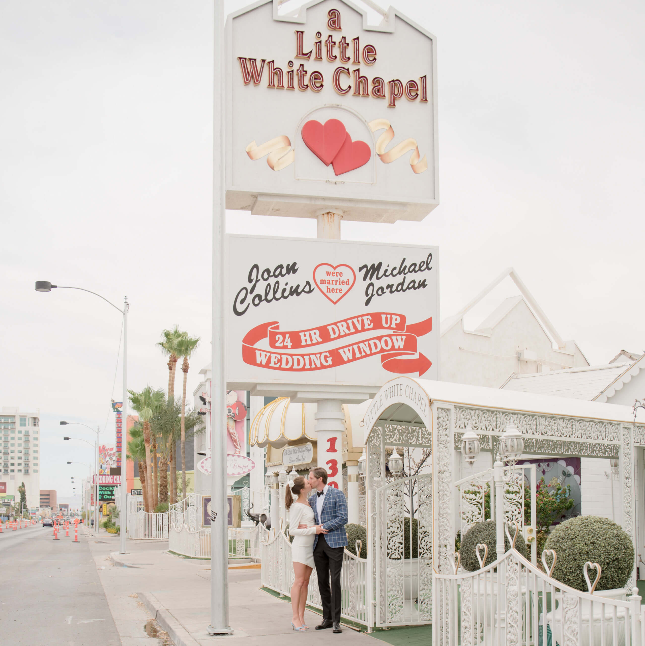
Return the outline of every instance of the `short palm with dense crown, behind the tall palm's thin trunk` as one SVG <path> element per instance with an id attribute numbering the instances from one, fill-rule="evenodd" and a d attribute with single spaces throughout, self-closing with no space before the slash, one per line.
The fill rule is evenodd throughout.
<path id="1" fill-rule="evenodd" d="M 159 503 L 168 502 L 167 464 L 172 447 L 181 437 L 181 404 L 167 401 L 150 420 L 152 434 L 158 437 L 159 446 Z M 187 439 L 205 431 L 203 417 L 197 411 L 188 410 L 184 416 Z"/>

